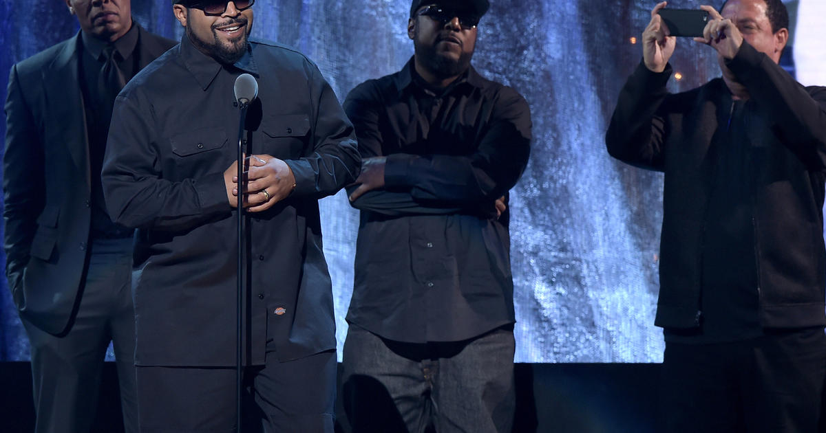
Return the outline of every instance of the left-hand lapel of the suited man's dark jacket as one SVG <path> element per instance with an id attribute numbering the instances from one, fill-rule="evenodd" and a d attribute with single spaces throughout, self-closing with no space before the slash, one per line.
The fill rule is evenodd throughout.
<path id="1" fill-rule="evenodd" d="M 86 111 L 83 109 L 83 92 L 80 91 L 78 68 L 78 40 L 74 36 L 55 57 L 50 68 L 43 71 L 50 121 L 59 123 L 63 129 L 64 143 L 72 155 L 75 165 L 86 172 L 86 186 L 90 187 L 88 164 L 88 131 Z"/>

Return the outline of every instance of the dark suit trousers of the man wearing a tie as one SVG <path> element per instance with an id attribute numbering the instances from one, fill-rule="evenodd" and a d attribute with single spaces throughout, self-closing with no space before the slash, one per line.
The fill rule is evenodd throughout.
<path id="1" fill-rule="evenodd" d="M 126 433 L 137 431 L 131 267 L 131 238 L 96 240 L 68 330 L 54 336 L 23 320 L 31 343 L 36 433 L 88 433 L 109 341 Z"/>

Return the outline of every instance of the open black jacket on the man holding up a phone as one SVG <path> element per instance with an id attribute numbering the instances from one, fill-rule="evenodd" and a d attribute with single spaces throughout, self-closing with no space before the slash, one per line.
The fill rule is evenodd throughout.
<path id="1" fill-rule="evenodd" d="M 727 65 L 751 96 L 744 157 L 761 324 L 823 326 L 826 88 L 801 86 L 746 42 Z M 709 148 L 726 125 L 732 96 L 721 78 L 670 94 L 670 74 L 639 65 L 605 141 L 611 156 L 665 173 L 655 323 L 686 328 L 698 325 L 704 215 L 714 188 Z"/>

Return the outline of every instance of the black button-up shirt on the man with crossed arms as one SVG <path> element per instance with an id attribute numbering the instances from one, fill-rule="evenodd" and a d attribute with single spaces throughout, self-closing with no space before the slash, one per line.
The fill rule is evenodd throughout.
<path id="1" fill-rule="evenodd" d="M 444 90 L 412 60 L 344 101 L 386 186 L 361 209 L 347 320 L 396 341 L 461 341 L 515 320 L 506 195 L 528 162 L 525 99 L 473 68 Z"/>

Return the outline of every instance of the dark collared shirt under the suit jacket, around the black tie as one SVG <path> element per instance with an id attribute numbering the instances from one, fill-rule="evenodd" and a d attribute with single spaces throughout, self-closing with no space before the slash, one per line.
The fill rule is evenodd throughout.
<path id="1" fill-rule="evenodd" d="M 126 34 L 115 42 L 106 42 L 82 31 L 83 51 L 80 56 L 81 92 L 83 92 L 83 111 L 86 112 L 86 130 L 89 143 L 89 180 L 92 187 L 90 206 L 92 208 L 92 238 L 129 238 L 133 230 L 112 223 L 103 201 L 101 187 L 101 167 L 103 154 L 106 153 L 106 139 L 109 134 L 109 121 L 112 117 L 112 96 L 100 95 L 98 80 L 101 68 L 107 58 L 104 50 L 112 45 L 117 51 L 117 67 L 128 82 L 138 72 L 138 26 L 131 26 Z M 120 89 L 118 89 L 120 90 Z"/>

